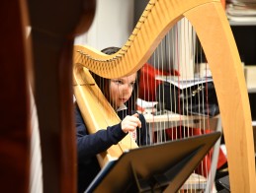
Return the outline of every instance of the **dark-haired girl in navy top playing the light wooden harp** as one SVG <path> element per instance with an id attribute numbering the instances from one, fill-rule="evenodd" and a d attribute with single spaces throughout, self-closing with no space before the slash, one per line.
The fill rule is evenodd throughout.
<path id="1" fill-rule="evenodd" d="M 109 47 L 104 53 L 113 54 L 120 48 Z M 81 112 L 75 104 L 76 136 L 78 148 L 78 192 L 84 192 L 86 187 L 100 171 L 96 155 L 106 151 L 112 145 L 118 144 L 128 133 L 140 145 L 149 143 L 145 119 L 136 113 L 135 101 L 137 96 L 137 73 L 120 79 L 104 79 L 93 74 L 95 82 L 117 111 L 121 123 L 100 130 L 95 134 L 88 134 Z"/>

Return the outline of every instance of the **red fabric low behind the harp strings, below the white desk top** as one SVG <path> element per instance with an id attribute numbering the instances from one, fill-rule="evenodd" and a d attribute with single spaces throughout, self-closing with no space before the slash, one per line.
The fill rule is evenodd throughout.
<path id="1" fill-rule="evenodd" d="M 189 136 L 207 134 L 207 133 L 210 133 L 210 132 L 211 132 L 211 130 L 202 130 L 202 129 L 199 129 L 199 128 L 178 127 L 178 128 L 166 129 L 166 134 L 172 140 L 182 139 L 182 138 L 189 137 Z M 212 156 L 213 156 L 213 150 L 210 151 L 210 153 L 205 157 L 205 159 L 197 167 L 197 169 L 196 169 L 197 173 L 199 173 L 199 174 L 201 174 L 205 177 L 208 176 L 208 173 L 209 173 L 210 168 L 211 168 Z M 226 160 L 222 150 L 219 149 L 217 168 L 222 166 L 226 161 L 227 160 Z"/>

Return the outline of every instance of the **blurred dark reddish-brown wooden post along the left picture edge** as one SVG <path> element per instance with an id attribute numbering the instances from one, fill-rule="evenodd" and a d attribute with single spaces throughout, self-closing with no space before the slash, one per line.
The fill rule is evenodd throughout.
<path id="1" fill-rule="evenodd" d="M 5 21 L 1 25 L 1 42 L 5 48 L 1 49 L 0 53 L 3 68 L 0 72 L 0 80 L 3 83 L 0 92 L 1 191 L 28 192 L 30 175 L 28 72 L 31 69 L 31 61 L 28 56 L 29 47 L 25 43 L 24 25 L 28 24 L 26 4 L 22 1 L 3 1 L 0 10 L 0 18 Z M 14 12 L 11 15 L 10 10 Z M 13 51 L 7 51 L 9 48 L 12 49 L 11 47 Z M 16 121 L 13 122 L 12 118 Z M 17 182 L 15 186 L 12 185 L 13 180 Z"/>

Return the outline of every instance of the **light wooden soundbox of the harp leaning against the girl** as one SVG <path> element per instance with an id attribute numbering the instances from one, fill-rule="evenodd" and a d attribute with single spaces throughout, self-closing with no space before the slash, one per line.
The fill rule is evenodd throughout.
<path id="1" fill-rule="evenodd" d="M 74 58 L 77 58 L 76 55 Z M 119 116 L 96 85 L 88 69 L 84 69 L 76 61 L 75 64 L 77 65 L 73 69 L 74 95 L 89 132 L 95 133 L 99 129 L 120 123 Z M 137 148 L 137 145 L 127 135 L 118 145 L 113 145 L 107 152 L 97 155 L 98 161 L 104 166 L 131 148 Z"/>

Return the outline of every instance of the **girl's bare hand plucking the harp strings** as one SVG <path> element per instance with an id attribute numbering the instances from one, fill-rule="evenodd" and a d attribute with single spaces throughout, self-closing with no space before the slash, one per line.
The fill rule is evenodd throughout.
<path id="1" fill-rule="evenodd" d="M 140 128 L 141 122 L 138 119 L 138 114 L 135 113 L 131 116 L 126 116 L 121 122 L 121 127 L 125 133 L 135 131 L 137 127 Z"/>

